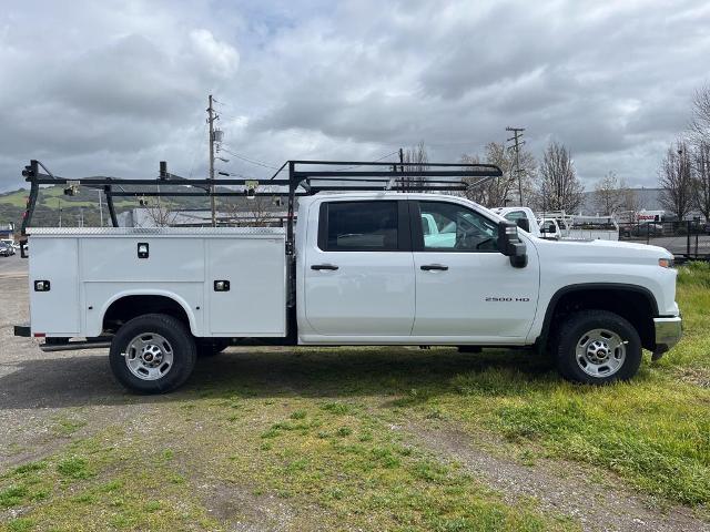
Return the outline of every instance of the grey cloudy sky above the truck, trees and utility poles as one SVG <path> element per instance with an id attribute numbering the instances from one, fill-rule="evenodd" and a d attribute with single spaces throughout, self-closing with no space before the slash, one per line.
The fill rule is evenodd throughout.
<path id="1" fill-rule="evenodd" d="M 536 156 L 565 143 L 588 187 L 653 186 L 710 81 L 708 28 L 707 0 L 3 0 L 0 191 L 29 158 L 203 177 L 210 93 L 221 168 L 246 176 L 419 141 L 458 161 L 517 125 Z"/>

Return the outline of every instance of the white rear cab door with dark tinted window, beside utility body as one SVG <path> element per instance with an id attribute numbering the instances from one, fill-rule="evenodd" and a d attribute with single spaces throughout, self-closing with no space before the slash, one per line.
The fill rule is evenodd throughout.
<path id="1" fill-rule="evenodd" d="M 406 201 L 328 201 L 310 216 L 304 304 L 312 334 L 408 336 L 415 276 Z"/>

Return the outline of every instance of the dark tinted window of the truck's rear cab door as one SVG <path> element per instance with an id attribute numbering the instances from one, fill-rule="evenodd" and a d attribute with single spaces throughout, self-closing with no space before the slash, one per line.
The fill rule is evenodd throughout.
<path id="1" fill-rule="evenodd" d="M 326 252 L 396 252 L 397 202 L 332 202 L 325 204 Z M 321 218 L 323 222 L 323 218 Z M 324 242 L 323 242 L 324 241 Z"/>

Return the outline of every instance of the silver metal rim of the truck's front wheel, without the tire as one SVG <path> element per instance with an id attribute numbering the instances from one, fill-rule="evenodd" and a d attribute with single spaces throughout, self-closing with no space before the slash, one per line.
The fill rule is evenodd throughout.
<path id="1" fill-rule="evenodd" d="M 609 377 L 616 374 L 626 360 L 627 341 L 608 329 L 592 329 L 577 341 L 577 365 L 591 377 Z"/>

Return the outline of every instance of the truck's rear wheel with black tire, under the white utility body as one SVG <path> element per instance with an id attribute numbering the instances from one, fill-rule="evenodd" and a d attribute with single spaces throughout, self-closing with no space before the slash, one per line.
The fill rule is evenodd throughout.
<path id="1" fill-rule="evenodd" d="M 182 321 L 146 314 L 123 325 L 111 341 L 115 378 L 141 393 L 163 393 L 181 386 L 195 367 L 195 342 Z"/>

